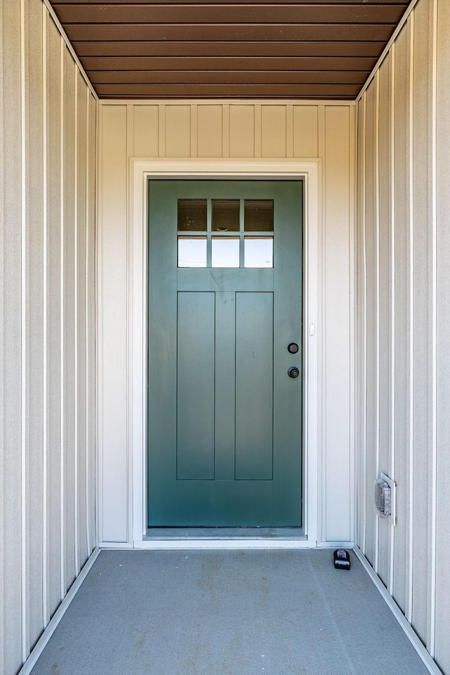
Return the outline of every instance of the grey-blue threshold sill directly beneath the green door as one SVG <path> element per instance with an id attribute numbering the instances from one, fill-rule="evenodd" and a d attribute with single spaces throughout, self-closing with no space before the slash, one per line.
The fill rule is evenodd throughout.
<path id="1" fill-rule="evenodd" d="M 186 539 L 291 539 L 306 541 L 302 527 L 148 527 L 144 541 Z"/>

